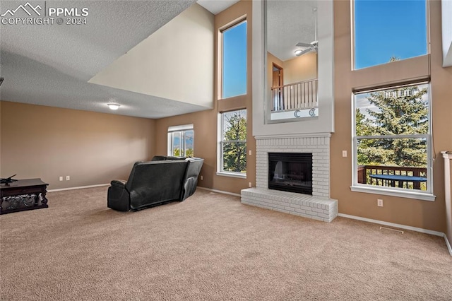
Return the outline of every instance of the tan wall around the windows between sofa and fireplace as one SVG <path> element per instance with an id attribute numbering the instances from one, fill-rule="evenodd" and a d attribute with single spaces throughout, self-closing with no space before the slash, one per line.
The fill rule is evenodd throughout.
<path id="1" fill-rule="evenodd" d="M 210 189 L 218 189 L 221 191 L 229 191 L 239 194 L 241 189 L 247 188 L 251 182 L 253 186 L 256 184 L 256 141 L 252 136 L 252 108 L 251 108 L 251 1 L 239 1 L 225 11 L 215 16 L 215 61 L 218 62 L 218 33 L 220 28 L 231 23 L 237 18 L 246 15 L 247 20 L 247 47 L 248 47 L 248 73 L 247 73 L 247 94 L 218 100 L 220 91 L 218 85 L 215 85 L 215 107 L 213 110 L 197 112 L 192 114 L 184 114 L 177 117 L 162 118 L 156 120 L 156 153 L 167 153 L 167 130 L 168 126 L 177 126 L 181 124 L 194 124 L 194 155 L 204 158 L 203 169 L 201 175 L 203 180 L 199 179 L 199 186 Z M 218 75 L 220 67 L 215 64 L 215 83 L 220 83 Z M 218 113 L 230 110 L 239 110 L 246 108 L 247 132 L 248 137 L 246 146 L 252 155 L 247 155 L 246 159 L 246 179 L 236 177 L 225 177 L 216 175 L 217 172 L 217 123 Z"/>

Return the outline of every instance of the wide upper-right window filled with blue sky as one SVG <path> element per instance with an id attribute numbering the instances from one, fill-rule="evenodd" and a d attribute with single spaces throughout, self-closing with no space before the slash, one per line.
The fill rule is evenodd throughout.
<path id="1" fill-rule="evenodd" d="M 355 69 L 427 54 L 427 1 L 353 3 Z"/>

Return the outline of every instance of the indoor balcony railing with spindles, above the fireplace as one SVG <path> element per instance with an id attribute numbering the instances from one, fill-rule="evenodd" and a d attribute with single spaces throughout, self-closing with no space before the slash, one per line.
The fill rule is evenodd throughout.
<path id="1" fill-rule="evenodd" d="M 300 81 L 271 88 L 272 112 L 305 110 L 319 107 L 318 80 Z"/>

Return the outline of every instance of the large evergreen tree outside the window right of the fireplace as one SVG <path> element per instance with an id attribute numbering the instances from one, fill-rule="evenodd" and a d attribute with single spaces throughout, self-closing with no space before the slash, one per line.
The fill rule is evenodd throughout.
<path id="1" fill-rule="evenodd" d="M 410 137 L 429 133 L 427 93 L 424 84 L 364 95 L 355 114 L 358 165 L 427 167 L 427 140 Z M 384 137 L 359 138 L 369 136 Z"/>

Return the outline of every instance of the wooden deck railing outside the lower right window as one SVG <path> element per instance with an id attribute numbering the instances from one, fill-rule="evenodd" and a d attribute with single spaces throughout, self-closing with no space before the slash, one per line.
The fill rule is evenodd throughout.
<path id="1" fill-rule="evenodd" d="M 359 165 L 358 183 L 427 190 L 427 168 Z"/>

